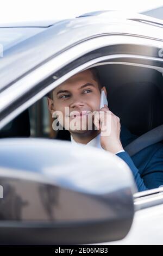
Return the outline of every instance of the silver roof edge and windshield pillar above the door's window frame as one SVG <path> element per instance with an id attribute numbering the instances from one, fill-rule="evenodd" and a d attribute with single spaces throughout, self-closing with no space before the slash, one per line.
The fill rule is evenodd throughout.
<path id="1" fill-rule="evenodd" d="M 23 23 L 24 29 L 28 26 L 28 22 Z M 0 91 L 49 58 L 99 35 L 128 34 L 162 40 L 163 22 L 141 14 L 98 11 L 74 19 L 45 21 L 40 25 L 39 22 L 30 23 L 30 28 L 36 29 L 37 26 L 45 29 L 8 48 L 0 57 Z"/>

